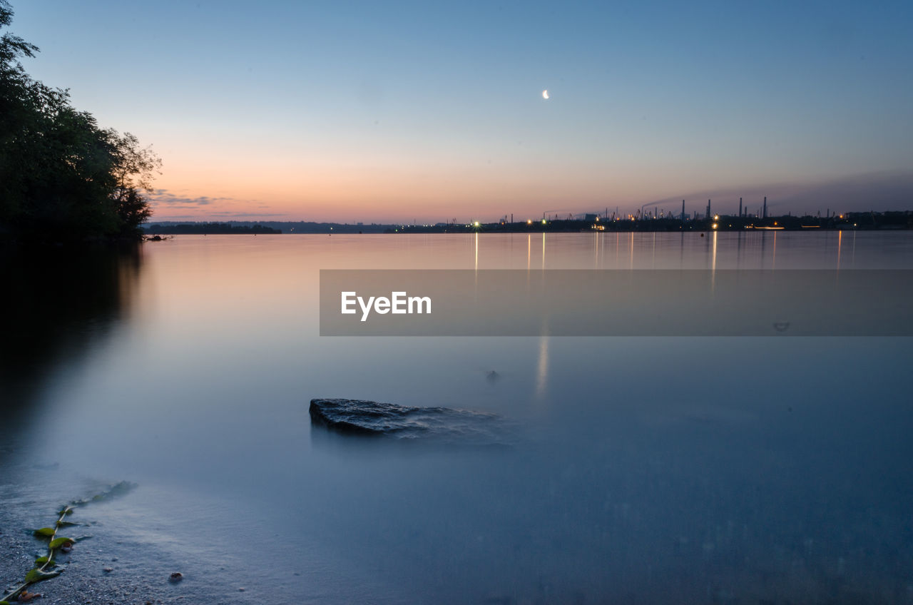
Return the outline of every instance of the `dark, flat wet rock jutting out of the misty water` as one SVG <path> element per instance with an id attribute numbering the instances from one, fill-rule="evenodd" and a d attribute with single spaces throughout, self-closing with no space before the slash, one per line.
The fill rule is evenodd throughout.
<path id="1" fill-rule="evenodd" d="M 402 440 L 503 443 L 496 414 L 450 408 L 408 408 L 361 399 L 311 399 L 310 420 L 331 430 Z"/>

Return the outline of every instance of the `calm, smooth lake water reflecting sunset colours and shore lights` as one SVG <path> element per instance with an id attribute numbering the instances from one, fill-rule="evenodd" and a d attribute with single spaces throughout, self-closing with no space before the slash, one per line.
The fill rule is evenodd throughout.
<path id="1" fill-rule="evenodd" d="M 137 483 L 80 509 L 82 556 L 163 600 L 913 603 L 909 338 L 318 335 L 320 269 L 913 269 L 913 233 L 184 236 L 2 263 L 2 529 Z M 311 398 L 493 412 L 508 444 L 337 436 Z"/>

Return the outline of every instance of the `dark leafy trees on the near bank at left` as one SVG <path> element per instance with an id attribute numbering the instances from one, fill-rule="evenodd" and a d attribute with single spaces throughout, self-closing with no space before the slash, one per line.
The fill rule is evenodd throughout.
<path id="1" fill-rule="evenodd" d="M 13 11 L 0 0 L 0 30 Z M 0 37 L 0 238 L 140 239 L 159 158 L 135 136 L 100 128 L 68 90 L 26 74 L 38 48 Z"/>

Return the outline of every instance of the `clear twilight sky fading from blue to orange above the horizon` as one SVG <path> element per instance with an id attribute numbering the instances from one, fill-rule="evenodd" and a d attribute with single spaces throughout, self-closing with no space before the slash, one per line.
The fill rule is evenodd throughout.
<path id="1" fill-rule="evenodd" d="M 12 4 L 160 220 L 913 209 L 909 2 Z"/>

